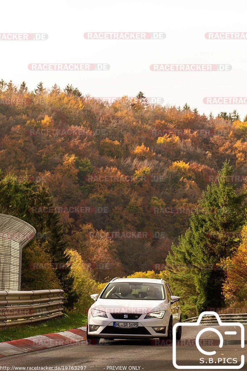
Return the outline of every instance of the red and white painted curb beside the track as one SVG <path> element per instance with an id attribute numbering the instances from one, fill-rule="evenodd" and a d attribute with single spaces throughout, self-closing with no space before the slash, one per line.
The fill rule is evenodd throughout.
<path id="1" fill-rule="evenodd" d="M 25 339 L 6 341 L 0 343 L 0 357 L 34 352 L 41 349 L 59 347 L 60 345 L 75 344 L 81 341 L 84 341 L 83 345 L 85 345 L 86 329 L 86 326 L 83 326 L 54 334 L 37 335 Z"/>

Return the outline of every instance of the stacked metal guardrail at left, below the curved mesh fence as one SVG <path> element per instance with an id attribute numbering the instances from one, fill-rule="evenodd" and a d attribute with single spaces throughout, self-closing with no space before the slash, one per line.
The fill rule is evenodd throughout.
<path id="1" fill-rule="evenodd" d="M 63 290 L 0 291 L 0 329 L 63 315 Z"/>

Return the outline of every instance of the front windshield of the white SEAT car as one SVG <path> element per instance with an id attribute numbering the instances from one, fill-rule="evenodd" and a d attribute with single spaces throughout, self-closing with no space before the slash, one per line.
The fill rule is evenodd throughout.
<path id="1" fill-rule="evenodd" d="M 111 282 L 101 294 L 102 299 L 164 300 L 162 283 Z"/>

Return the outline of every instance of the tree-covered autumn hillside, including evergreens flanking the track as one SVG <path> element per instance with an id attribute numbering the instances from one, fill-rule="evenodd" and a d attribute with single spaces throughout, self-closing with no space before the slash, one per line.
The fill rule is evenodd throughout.
<path id="1" fill-rule="evenodd" d="M 236 111 L 1 80 L 0 212 L 37 230 L 22 289 L 62 287 L 87 308 L 83 285 L 153 270 L 187 315 L 247 300 L 246 138 Z"/>

